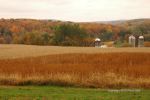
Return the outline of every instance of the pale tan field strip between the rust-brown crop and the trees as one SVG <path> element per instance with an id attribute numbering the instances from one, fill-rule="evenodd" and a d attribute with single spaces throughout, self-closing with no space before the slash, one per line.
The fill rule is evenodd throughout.
<path id="1" fill-rule="evenodd" d="M 150 53 L 150 48 L 95 48 L 95 47 L 58 47 L 58 46 L 33 46 L 33 45 L 0 45 L 0 59 L 37 57 L 54 54 L 70 53 L 112 53 L 112 52 L 144 52 Z"/>

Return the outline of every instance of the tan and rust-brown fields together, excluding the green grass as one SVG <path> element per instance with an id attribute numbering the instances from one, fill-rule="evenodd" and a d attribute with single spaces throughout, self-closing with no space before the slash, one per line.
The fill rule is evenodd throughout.
<path id="1" fill-rule="evenodd" d="M 0 45 L 0 58 L 1 85 L 150 88 L 149 48 Z"/>

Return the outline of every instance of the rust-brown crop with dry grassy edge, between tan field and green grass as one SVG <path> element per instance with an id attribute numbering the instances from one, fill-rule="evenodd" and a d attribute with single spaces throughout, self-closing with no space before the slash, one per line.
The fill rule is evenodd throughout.
<path id="1" fill-rule="evenodd" d="M 0 60 L 0 84 L 150 88 L 150 53 L 56 54 Z"/>

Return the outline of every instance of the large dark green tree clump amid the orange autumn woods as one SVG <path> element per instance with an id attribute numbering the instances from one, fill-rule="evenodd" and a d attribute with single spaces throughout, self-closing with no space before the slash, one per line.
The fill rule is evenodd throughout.
<path id="1" fill-rule="evenodd" d="M 78 24 L 62 24 L 55 30 L 53 43 L 56 45 L 82 45 L 87 34 Z"/>

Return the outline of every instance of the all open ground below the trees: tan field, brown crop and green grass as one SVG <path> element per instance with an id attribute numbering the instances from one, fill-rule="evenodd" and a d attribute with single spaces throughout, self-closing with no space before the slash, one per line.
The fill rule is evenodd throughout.
<path id="1" fill-rule="evenodd" d="M 149 89 L 150 48 L 0 45 L 0 100 L 148 100 Z"/>

